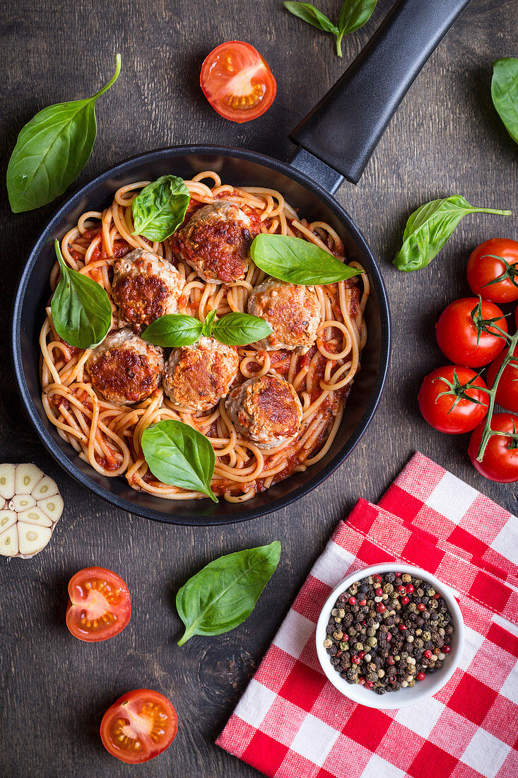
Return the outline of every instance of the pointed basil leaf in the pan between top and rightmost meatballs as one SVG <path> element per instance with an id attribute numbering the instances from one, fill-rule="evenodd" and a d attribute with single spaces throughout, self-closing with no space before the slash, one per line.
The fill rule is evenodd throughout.
<path id="1" fill-rule="evenodd" d="M 323 248 L 290 235 L 260 233 L 250 246 L 257 267 L 275 279 L 300 286 L 334 284 L 359 275 Z"/>

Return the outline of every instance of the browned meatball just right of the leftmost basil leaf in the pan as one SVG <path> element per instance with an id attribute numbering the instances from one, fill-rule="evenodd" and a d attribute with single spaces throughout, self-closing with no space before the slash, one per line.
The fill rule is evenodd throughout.
<path id="1" fill-rule="evenodd" d="M 184 286 L 177 268 L 141 248 L 114 263 L 114 302 L 137 334 L 159 316 L 178 312 Z"/>

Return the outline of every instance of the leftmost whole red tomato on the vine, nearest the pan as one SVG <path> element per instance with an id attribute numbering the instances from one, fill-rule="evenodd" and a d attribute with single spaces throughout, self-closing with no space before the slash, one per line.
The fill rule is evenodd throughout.
<path id="1" fill-rule="evenodd" d="M 482 390 L 487 388 L 474 370 L 458 365 L 439 367 L 425 377 L 418 394 L 419 409 L 439 433 L 469 433 L 485 418 L 488 395 L 471 388 L 470 384 L 482 387 Z M 473 398 L 473 401 L 467 398 Z"/>

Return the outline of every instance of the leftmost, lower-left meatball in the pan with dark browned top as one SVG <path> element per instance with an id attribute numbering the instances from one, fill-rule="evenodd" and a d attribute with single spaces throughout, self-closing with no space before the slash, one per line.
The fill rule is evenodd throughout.
<path id="1" fill-rule="evenodd" d="M 86 360 L 94 389 L 115 405 L 133 405 L 148 398 L 160 384 L 163 365 L 162 349 L 129 328 L 112 332 Z"/>

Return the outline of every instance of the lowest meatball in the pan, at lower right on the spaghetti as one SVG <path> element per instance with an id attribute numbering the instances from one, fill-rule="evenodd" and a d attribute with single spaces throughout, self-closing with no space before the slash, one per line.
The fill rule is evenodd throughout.
<path id="1" fill-rule="evenodd" d="M 233 389 L 225 407 L 237 431 L 259 448 L 285 443 L 299 432 L 303 416 L 292 384 L 268 373 Z"/>

